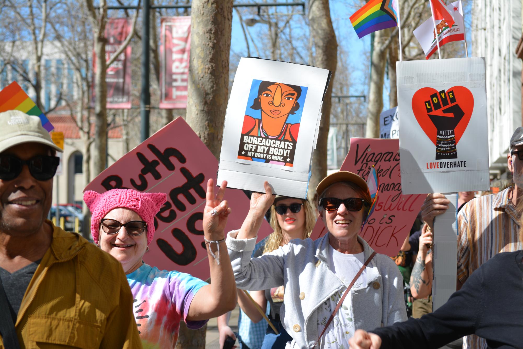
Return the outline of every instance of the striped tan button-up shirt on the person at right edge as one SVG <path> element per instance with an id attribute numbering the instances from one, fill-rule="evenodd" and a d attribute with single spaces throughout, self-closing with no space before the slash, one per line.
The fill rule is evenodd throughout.
<path id="1" fill-rule="evenodd" d="M 499 252 L 523 249 L 519 241 L 520 214 L 510 200 L 513 187 L 469 201 L 458 213 L 458 279 L 468 277 Z M 476 335 L 466 337 L 465 349 L 486 348 Z"/>

